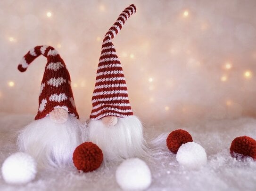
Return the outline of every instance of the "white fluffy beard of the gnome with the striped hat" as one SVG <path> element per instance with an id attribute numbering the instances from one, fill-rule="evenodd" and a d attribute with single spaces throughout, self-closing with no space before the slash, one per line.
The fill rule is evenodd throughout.
<path id="1" fill-rule="evenodd" d="M 148 156 L 142 124 L 134 115 L 118 118 L 113 127 L 106 127 L 101 120 L 89 120 L 88 128 L 89 141 L 99 146 L 105 161 Z"/>

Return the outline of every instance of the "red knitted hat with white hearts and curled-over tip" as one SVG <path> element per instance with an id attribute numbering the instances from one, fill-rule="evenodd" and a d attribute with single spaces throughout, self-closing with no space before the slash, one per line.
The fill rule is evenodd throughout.
<path id="1" fill-rule="evenodd" d="M 41 54 L 47 58 L 47 64 L 41 82 L 39 108 L 35 120 L 47 116 L 54 108 L 64 108 L 69 114 L 79 118 L 70 75 L 57 50 L 51 46 L 34 47 L 21 59 L 18 70 L 25 72 L 29 64 Z"/>

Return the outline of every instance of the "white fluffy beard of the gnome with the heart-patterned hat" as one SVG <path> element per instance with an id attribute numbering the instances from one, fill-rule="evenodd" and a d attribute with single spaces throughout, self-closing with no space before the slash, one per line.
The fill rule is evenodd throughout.
<path id="1" fill-rule="evenodd" d="M 31 154 L 41 168 L 67 167 L 73 165 L 74 149 L 86 135 L 86 128 L 74 116 L 69 115 L 65 123 L 55 123 L 48 115 L 25 126 L 19 132 L 17 146 Z"/>

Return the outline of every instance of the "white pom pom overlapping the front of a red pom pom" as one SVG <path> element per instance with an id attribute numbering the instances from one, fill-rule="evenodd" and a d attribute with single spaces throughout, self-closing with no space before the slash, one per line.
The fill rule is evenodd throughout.
<path id="1" fill-rule="evenodd" d="M 206 165 L 206 151 L 201 145 L 188 142 L 181 145 L 176 154 L 176 160 L 185 168 L 197 169 Z"/>

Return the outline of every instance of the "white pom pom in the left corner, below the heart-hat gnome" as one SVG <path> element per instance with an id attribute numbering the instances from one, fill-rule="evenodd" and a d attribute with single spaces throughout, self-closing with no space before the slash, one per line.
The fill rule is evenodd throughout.
<path id="1" fill-rule="evenodd" d="M 7 183 L 28 183 L 36 176 L 36 161 L 26 153 L 10 155 L 2 165 L 2 176 Z"/>

